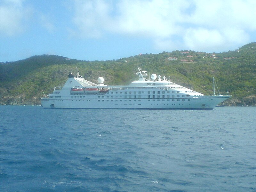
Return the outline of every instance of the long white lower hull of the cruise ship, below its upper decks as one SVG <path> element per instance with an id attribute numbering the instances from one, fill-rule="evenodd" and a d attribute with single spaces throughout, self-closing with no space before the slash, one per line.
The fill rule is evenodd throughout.
<path id="1" fill-rule="evenodd" d="M 213 109 L 230 96 L 173 99 L 42 99 L 43 108 Z"/>

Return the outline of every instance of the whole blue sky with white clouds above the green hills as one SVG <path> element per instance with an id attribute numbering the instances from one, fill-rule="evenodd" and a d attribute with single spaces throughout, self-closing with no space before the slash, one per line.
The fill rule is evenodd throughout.
<path id="1" fill-rule="evenodd" d="M 255 0 L 0 0 L 0 62 L 227 52 L 256 41 L 255 10 Z"/>

